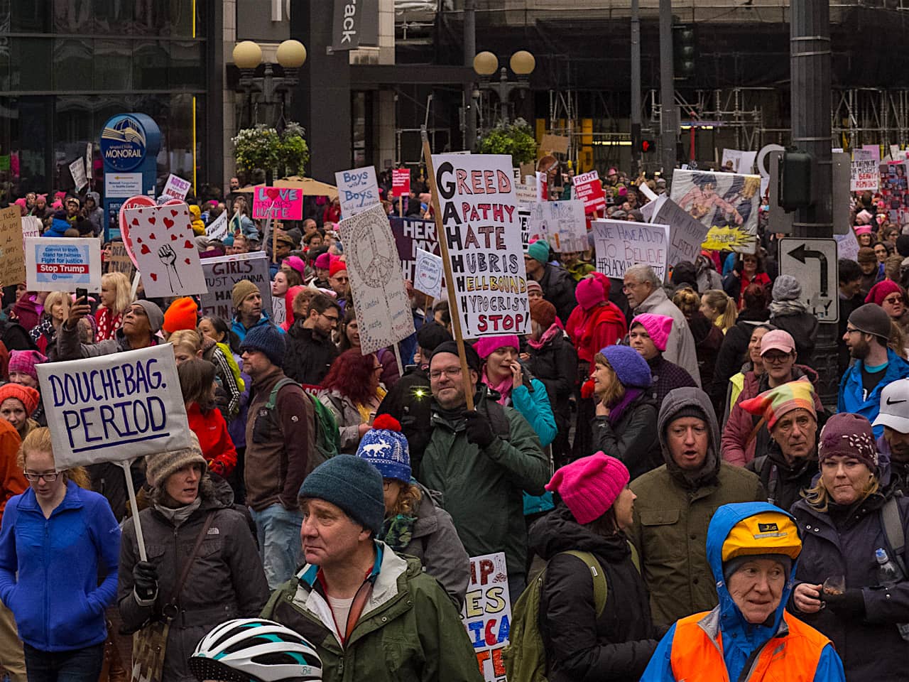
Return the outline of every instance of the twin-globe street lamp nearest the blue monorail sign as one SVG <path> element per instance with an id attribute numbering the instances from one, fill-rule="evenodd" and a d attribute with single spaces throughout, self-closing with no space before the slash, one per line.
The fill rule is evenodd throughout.
<path id="1" fill-rule="evenodd" d="M 281 115 L 275 122 L 280 133 L 284 128 L 285 94 L 292 95 L 299 84 L 299 69 L 306 61 L 306 48 L 298 40 L 285 40 L 275 52 L 275 58 L 284 69 L 283 76 L 275 76 L 271 62 L 265 63 L 265 74 L 256 77 L 255 69 L 262 64 L 262 47 L 251 40 L 237 43 L 234 47 L 234 64 L 240 69 L 240 86 L 246 94 L 246 125 L 253 125 L 253 93 L 261 94 L 266 106 L 281 105 Z M 256 116 L 256 118 L 258 118 Z"/>

